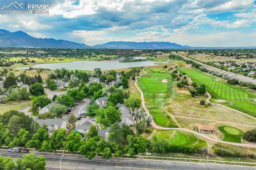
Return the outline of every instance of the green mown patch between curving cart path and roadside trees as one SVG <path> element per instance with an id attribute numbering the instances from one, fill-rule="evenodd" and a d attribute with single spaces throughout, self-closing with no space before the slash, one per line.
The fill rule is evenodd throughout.
<path id="1" fill-rule="evenodd" d="M 183 146 L 205 147 L 206 142 L 196 137 L 194 134 L 179 130 L 157 130 L 154 134 L 158 139 L 164 138 L 170 144 Z"/>

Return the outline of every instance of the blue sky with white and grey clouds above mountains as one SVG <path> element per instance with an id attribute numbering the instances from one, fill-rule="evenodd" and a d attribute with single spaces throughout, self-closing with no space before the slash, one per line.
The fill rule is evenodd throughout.
<path id="1" fill-rule="evenodd" d="M 1 0 L 0 5 L 10 2 Z M 255 0 L 36 2 L 50 4 L 50 14 L 0 14 L 0 28 L 87 45 L 164 41 L 204 47 L 256 46 Z"/>

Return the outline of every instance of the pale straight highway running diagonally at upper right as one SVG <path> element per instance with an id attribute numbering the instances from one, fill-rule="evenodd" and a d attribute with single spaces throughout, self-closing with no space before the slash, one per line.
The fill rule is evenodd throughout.
<path id="1" fill-rule="evenodd" d="M 194 59 L 190 59 L 190 58 L 188 58 L 188 57 L 186 57 L 186 56 L 184 56 L 184 55 L 178 54 L 178 53 L 176 53 L 176 52 L 173 52 L 173 53 L 176 54 L 176 55 L 180 55 L 180 56 L 183 57 L 184 59 L 192 60 L 192 61 L 194 61 L 195 63 L 198 63 L 198 64 L 200 64 L 200 65 L 203 65 L 204 67 L 206 67 L 206 68 L 207 68 L 208 70 L 210 70 L 210 71 L 219 71 L 219 72 L 222 72 L 222 73 L 226 73 L 228 76 L 234 77 L 234 78 L 236 78 L 236 79 L 238 79 L 238 80 L 242 80 L 242 81 L 251 82 L 251 83 L 256 84 L 256 79 L 254 80 L 254 79 L 252 79 L 252 78 L 250 78 L 250 77 L 246 77 L 246 76 L 244 76 L 244 75 L 239 75 L 239 74 L 236 75 L 235 73 L 231 73 L 231 72 L 229 72 L 229 71 L 224 71 L 224 70 L 222 70 L 222 69 L 218 69 L 218 68 L 216 68 L 216 67 L 212 67 L 212 66 L 210 66 L 210 65 L 206 65 L 206 64 L 201 63 L 201 62 L 199 62 L 199 61 L 196 61 L 196 60 L 194 60 Z"/>

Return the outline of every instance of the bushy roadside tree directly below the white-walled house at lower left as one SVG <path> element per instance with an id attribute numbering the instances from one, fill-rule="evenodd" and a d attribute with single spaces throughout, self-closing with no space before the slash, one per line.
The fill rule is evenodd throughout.
<path id="1" fill-rule="evenodd" d="M 66 135 L 66 130 L 64 128 L 60 128 L 60 130 L 54 130 L 52 132 L 52 136 L 49 142 L 52 150 L 58 150 L 63 147 L 65 135 Z"/>

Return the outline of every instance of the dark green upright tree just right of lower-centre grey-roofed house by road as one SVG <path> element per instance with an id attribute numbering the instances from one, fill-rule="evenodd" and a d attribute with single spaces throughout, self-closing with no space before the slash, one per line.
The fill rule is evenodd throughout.
<path id="1" fill-rule="evenodd" d="M 111 125 L 109 132 L 108 141 L 116 142 L 118 144 L 121 144 L 124 141 L 124 132 L 122 132 L 122 128 L 118 123 Z"/>

